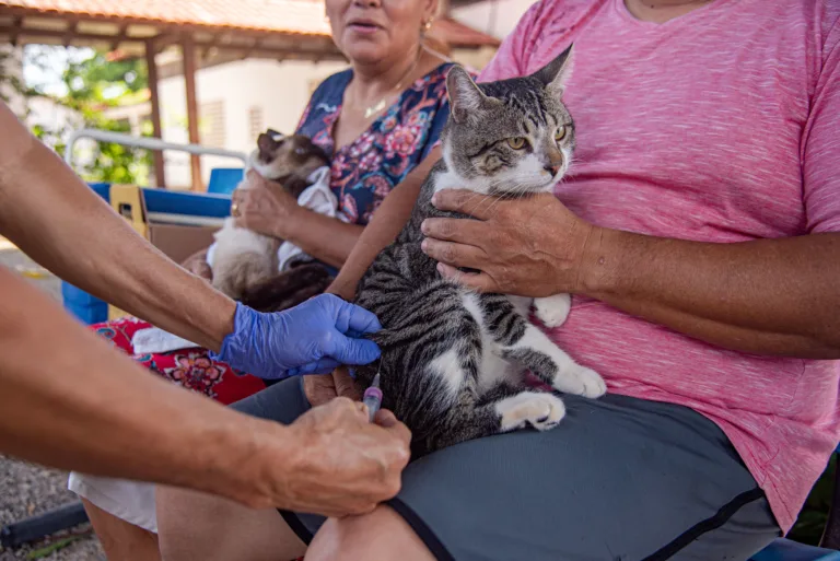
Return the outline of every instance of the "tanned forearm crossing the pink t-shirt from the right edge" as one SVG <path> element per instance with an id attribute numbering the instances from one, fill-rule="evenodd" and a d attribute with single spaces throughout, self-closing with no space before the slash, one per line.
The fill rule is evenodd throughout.
<path id="1" fill-rule="evenodd" d="M 596 230 L 582 291 L 746 352 L 840 358 L 840 235 L 708 244 Z"/>

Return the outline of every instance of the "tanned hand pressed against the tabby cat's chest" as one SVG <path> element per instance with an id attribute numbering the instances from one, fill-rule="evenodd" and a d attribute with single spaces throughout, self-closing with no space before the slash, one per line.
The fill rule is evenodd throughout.
<path id="1" fill-rule="evenodd" d="M 423 252 L 440 261 L 444 277 L 482 292 L 534 297 L 580 292 L 584 253 L 596 229 L 552 195 L 499 200 L 446 189 L 432 203 L 477 219 L 423 222 Z"/>

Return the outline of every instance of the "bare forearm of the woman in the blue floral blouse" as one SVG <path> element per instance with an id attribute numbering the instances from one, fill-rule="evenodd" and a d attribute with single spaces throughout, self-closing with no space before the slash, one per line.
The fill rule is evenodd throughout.
<path id="1" fill-rule="evenodd" d="M 284 237 L 307 255 L 338 268 L 345 265 L 364 231 L 364 226 L 347 224 L 303 208 L 289 220 L 278 237 Z"/>

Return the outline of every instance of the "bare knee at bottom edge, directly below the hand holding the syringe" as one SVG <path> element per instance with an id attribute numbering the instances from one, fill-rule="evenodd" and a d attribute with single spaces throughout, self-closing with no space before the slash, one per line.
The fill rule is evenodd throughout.
<path id="1" fill-rule="evenodd" d="M 363 516 L 328 519 L 306 552 L 306 561 L 357 559 L 434 561 L 402 517 L 384 505 Z"/>

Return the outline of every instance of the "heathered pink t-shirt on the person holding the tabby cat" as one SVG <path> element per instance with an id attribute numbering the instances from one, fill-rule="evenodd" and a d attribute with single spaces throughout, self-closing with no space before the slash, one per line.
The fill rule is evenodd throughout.
<path id="1" fill-rule="evenodd" d="M 480 81 L 574 42 L 578 150 L 557 196 L 594 224 L 720 243 L 838 232 L 839 17 L 835 0 L 716 0 L 654 24 L 623 0 L 542 0 Z M 840 437 L 840 362 L 723 350 L 586 297 L 552 336 L 610 391 L 718 423 L 790 529 Z"/>

